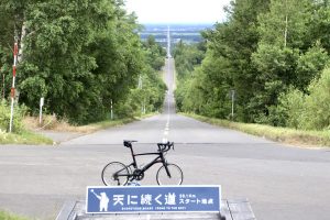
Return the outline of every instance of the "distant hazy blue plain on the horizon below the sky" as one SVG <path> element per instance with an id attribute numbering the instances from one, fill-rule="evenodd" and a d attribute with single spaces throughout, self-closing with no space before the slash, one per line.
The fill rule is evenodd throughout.
<path id="1" fill-rule="evenodd" d="M 169 26 L 170 43 L 176 44 L 180 40 L 185 43 L 193 44 L 202 41 L 201 31 L 212 29 L 213 24 L 143 24 L 144 30 L 140 33 L 142 41 L 145 41 L 148 35 L 154 35 L 156 42 L 164 47 L 167 43 L 167 29 Z"/>

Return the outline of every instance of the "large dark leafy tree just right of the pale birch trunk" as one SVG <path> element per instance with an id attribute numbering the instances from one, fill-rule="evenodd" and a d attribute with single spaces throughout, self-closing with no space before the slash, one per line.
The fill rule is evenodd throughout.
<path id="1" fill-rule="evenodd" d="M 21 101 L 37 111 L 45 97 L 50 112 L 70 122 L 97 121 L 105 116 L 101 90 L 90 53 L 96 32 L 107 29 L 113 6 L 105 1 L 38 2 L 25 11 L 29 32 L 20 65 Z M 101 33 L 101 32 L 100 32 Z M 107 74 L 107 73 L 103 73 Z M 77 114 L 77 112 L 79 112 Z"/>

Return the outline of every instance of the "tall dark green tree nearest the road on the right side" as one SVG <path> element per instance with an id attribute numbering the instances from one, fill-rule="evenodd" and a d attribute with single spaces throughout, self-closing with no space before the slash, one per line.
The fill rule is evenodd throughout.
<path id="1" fill-rule="evenodd" d="M 234 89 L 238 95 L 237 120 L 253 121 L 256 110 L 250 105 L 250 100 L 258 85 L 255 80 L 257 70 L 251 63 L 251 55 L 256 51 L 260 37 L 256 29 L 257 15 L 267 11 L 267 7 L 268 1 L 262 0 L 232 1 L 231 6 L 226 9 L 228 21 L 218 23 L 213 30 L 204 33 L 204 37 L 208 41 L 208 57 L 206 58 L 208 62 L 202 63 L 200 74 L 205 78 L 202 87 L 212 92 L 207 92 L 208 95 L 202 99 L 208 100 L 206 107 L 213 109 L 212 112 L 223 112 L 211 116 L 227 118 L 224 109 L 229 100 L 227 98 L 224 101 L 224 97 L 228 97 L 229 91 Z M 212 68 L 215 69 L 211 70 Z M 223 105 L 222 110 L 217 110 L 219 105 Z M 207 112 L 210 111 L 206 111 L 206 114 L 209 114 Z"/>

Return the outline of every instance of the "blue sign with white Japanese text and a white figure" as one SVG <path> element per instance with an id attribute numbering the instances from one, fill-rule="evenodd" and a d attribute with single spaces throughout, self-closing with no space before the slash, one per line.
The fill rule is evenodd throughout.
<path id="1" fill-rule="evenodd" d="M 220 210 L 220 186 L 87 187 L 88 213 Z"/>

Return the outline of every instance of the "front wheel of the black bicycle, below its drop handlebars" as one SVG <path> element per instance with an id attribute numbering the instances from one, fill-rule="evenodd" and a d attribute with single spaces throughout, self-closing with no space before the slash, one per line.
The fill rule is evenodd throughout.
<path id="1" fill-rule="evenodd" d="M 176 164 L 166 164 L 166 167 L 163 165 L 157 172 L 158 185 L 182 185 L 184 180 L 182 168 Z"/>

